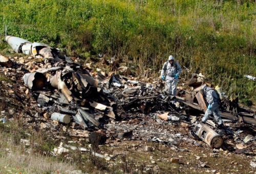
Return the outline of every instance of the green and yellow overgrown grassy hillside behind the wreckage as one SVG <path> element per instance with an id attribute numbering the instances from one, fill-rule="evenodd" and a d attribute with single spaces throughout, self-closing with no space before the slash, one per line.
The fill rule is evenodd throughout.
<path id="1" fill-rule="evenodd" d="M 0 0 L 0 31 L 84 58 L 161 69 L 172 54 L 230 96 L 256 100 L 256 4 L 199 0 Z M 2 54 L 8 46 L 0 44 Z"/>

